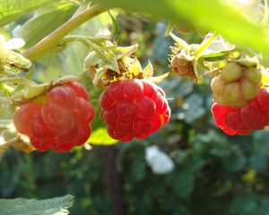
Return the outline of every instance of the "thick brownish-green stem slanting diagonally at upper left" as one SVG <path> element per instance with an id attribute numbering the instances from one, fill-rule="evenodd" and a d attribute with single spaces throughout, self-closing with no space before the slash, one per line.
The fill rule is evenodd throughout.
<path id="1" fill-rule="evenodd" d="M 30 47 L 23 53 L 23 56 L 30 60 L 38 58 L 39 56 L 44 56 L 49 49 L 56 47 L 57 42 L 60 39 L 63 39 L 66 34 L 70 33 L 82 23 L 87 22 L 91 18 L 99 15 L 100 13 L 104 13 L 107 10 L 107 8 L 104 8 L 100 4 L 94 4 L 89 9 L 86 9 L 82 13 L 74 16 L 71 20 L 65 22 L 59 28 L 51 32 L 46 38 L 40 40 L 35 46 Z"/>

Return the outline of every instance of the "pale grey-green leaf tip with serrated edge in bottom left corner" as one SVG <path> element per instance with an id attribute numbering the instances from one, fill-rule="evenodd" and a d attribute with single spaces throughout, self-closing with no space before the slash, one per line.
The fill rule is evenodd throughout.
<path id="1" fill-rule="evenodd" d="M 0 215 L 65 215 L 66 209 L 73 205 L 74 197 L 70 194 L 46 200 L 35 199 L 0 199 Z"/>

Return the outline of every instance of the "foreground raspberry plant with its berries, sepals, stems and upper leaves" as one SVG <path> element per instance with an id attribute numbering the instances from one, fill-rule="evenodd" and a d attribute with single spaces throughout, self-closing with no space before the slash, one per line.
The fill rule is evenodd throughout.
<path id="1" fill-rule="evenodd" d="M 223 23 L 221 27 L 213 24 L 208 8 L 198 0 L 188 4 L 160 1 L 158 5 L 152 2 L 143 5 L 141 0 L 134 5 L 121 0 L 115 3 L 102 0 L 98 4 L 60 1 L 50 7 L 48 4 L 53 1 L 37 1 L 25 6 L 25 1 L 20 0 L 18 5 L 11 3 L 12 10 L 8 10 L 7 1 L 4 3 L 0 4 L 0 8 L 6 10 L 1 13 L 0 24 L 8 26 L 0 34 L 0 100 L 5 107 L 0 108 L 11 108 L 13 113 L 10 119 L 0 122 L 0 150 L 9 146 L 24 152 L 66 152 L 82 145 L 89 148 L 88 143 L 94 143 L 91 133 L 104 126 L 107 133 L 102 135 L 107 136 L 108 142 L 147 138 L 169 124 L 173 114 L 164 90 L 161 85 L 157 86 L 164 79 L 169 82 L 187 78 L 197 85 L 211 82 L 213 119 L 224 133 L 247 135 L 269 125 L 266 1 L 258 5 L 264 10 L 258 14 L 262 19 L 257 23 L 238 15 L 230 4 L 213 1 L 212 8 L 221 8 L 217 10 L 218 19 Z M 22 7 L 21 11 L 18 6 Z M 115 6 L 138 12 L 155 8 L 154 15 L 169 19 L 165 34 L 175 40 L 169 56 L 169 73 L 155 76 L 153 68 L 157 65 L 151 62 L 142 69 L 142 57 L 137 56 L 140 47 L 135 41 L 127 47 L 119 46 L 117 20 L 110 13 L 116 11 Z M 25 22 L 21 29 L 13 28 L 11 22 L 16 22 L 18 16 L 42 7 L 44 11 Z M 61 22 L 49 26 L 49 32 L 39 34 L 40 23 L 36 23 L 44 16 L 57 18 L 59 8 L 65 8 Z M 165 13 L 169 10 L 169 14 Z M 106 12 L 113 25 L 109 34 L 101 31 L 94 35 L 69 34 L 83 22 Z M 203 22 L 194 22 L 200 20 L 199 14 L 204 14 Z M 191 23 L 191 26 L 185 28 L 180 22 Z M 33 28 L 30 30 L 34 35 L 32 40 L 30 27 Z M 19 32 L 25 41 L 11 39 L 13 35 L 8 28 L 13 29 L 13 35 Z M 242 34 L 231 35 L 230 28 Z M 191 30 L 199 31 L 203 40 L 200 44 L 187 44 L 179 37 L 181 32 Z M 258 39 L 256 43 L 253 38 Z M 42 70 L 37 63 L 39 58 L 58 55 L 75 42 L 80 42 L 87 50 L 83 73 L 74 71 L 75 75 L 58 75 L 49 82 L 40 82 L 36 78 Z M 99 118 L 104 125 L 98 122 Z"/>

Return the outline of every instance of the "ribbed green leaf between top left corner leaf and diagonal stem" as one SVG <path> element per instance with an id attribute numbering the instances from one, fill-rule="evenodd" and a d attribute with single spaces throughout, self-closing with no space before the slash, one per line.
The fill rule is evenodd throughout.
<path id="1" fill-rule="evenodd" d="M 24 39 L 25 47 L 31 47 L 66 22 L 79 4 L 63 2 L 42 8 L 30 21 L 15 30 L 15 36 Z"/>

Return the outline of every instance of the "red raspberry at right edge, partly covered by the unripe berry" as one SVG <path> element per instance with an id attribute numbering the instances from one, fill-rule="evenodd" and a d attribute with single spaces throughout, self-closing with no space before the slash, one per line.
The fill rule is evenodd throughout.
<path id="1" fill-rule="evenodd" d="M 269 125 L 269 88 L 260 88 L 254 99 L 244 107 L 212 107 L 215 124 L 230 135 L 246 135 L 251 130 L 264 129 Z"/>

